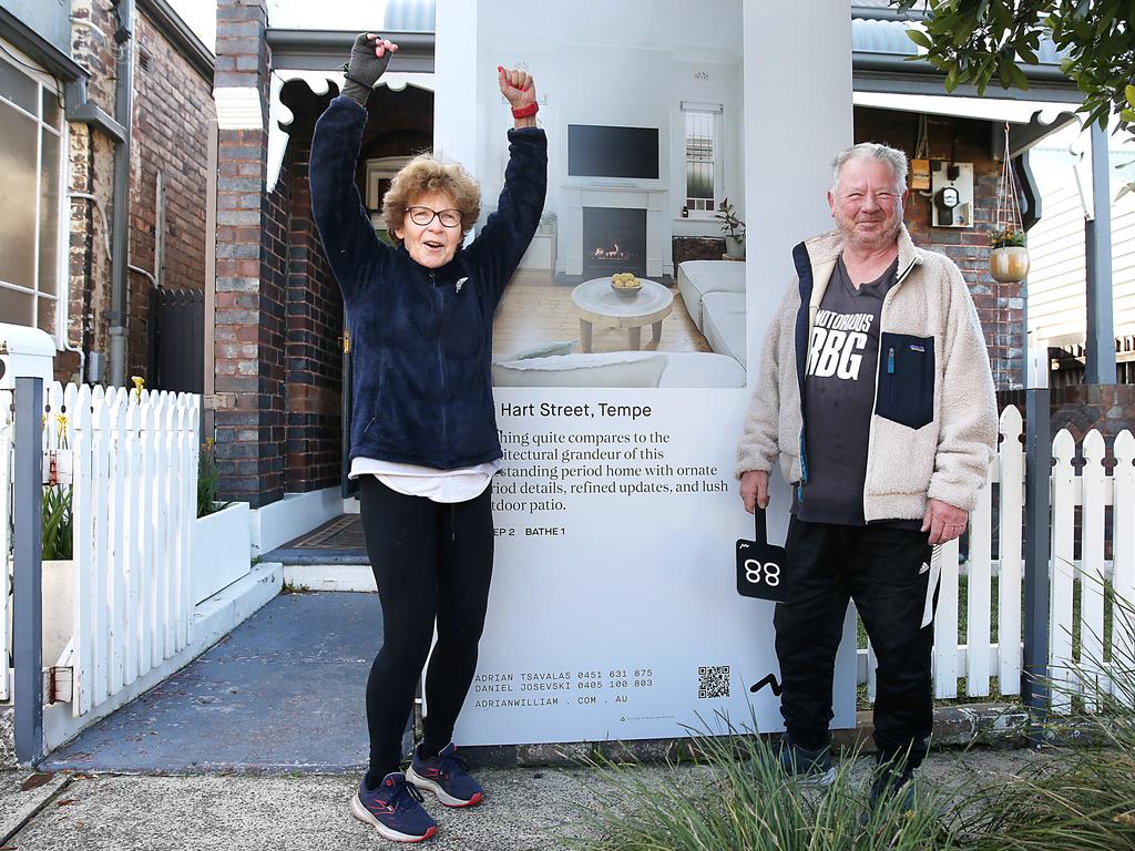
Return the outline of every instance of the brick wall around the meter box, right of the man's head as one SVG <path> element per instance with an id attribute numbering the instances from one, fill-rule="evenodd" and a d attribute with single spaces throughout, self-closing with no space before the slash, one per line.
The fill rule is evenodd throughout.
<path id="1" fill-rule="evenodd" d="M 993 126 L 990 121 L 931 117 L 928 137 L 930 159 L 974 165 L 974 227 L 931 227 L 931 200 L 913 192 L 907 201 L 907 228 L 916 245 L 942 252 L 961 269 L 985 332 L 997 388 L 1023 387 L 1026 285 L 1000 284 L 989 273 L 986 234 L 1001 174 L 1001 162 L 992 157 Z M 909 157 L 917 138 L 918 113 L 856 107 L 856 142 L 884 142 Z"/>

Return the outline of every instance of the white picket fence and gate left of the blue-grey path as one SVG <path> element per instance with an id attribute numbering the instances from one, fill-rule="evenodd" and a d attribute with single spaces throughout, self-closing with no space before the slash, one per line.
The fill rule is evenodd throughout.
<path id="1" fill-rule="evenodd" d="M 7 517 L 11 414 L 2 396 L 0 516 Z M 75 603 L 72 642 L 58 673 L 70 673 L 75 717 L 188 643 L 200 408 L 201 397 L 191 394 L 45 388 L 44 480 L 54 474 L 73 488 Z M 0 525 L 6 536 L 8 523 Z M 8 551 L 7 540 L 0 546 Z M 8 572 L 0 574 L 6 608 Z M 7 631 L 0 634 L 6 643 Z M 0 665 L 0 697 L 8 694 L 7 674 Z"/>

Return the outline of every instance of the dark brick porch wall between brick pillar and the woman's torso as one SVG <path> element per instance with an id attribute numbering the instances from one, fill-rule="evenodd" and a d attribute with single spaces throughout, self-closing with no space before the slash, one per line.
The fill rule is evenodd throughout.
<path id="1" fill-rule="evenodd" d="M 342 464 L 343 297 L 311 218 L 310 148 L 293 140 L 287 267 L 288 492 L 337 485 Z"/>

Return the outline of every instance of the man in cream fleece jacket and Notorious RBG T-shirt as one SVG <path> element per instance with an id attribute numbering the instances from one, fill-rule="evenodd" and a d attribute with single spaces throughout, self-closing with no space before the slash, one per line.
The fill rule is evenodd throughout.
<path id="1" fill-rule="evenodd" d="M 864 143 L 834 163 L 836 229 L 793 248 L 738 447 L 747 511 L 779 460 L 793 487 L 788 601 L 773 623 L 784 770 L 818 782 L 848 599 L 878 659 L 871 801 L 910 800 L 933 719 L 933 547 L 960 536 L 997 444 L 985 342 L 961 272 L 902 225 L 906 154 Z"/>

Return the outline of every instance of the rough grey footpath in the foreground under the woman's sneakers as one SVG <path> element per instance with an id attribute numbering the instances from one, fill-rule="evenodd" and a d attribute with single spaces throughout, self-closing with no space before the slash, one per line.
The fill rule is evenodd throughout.
<path id="1" fill-rule="evenodd" d="M 948 752 L 931 758 L 925 782 L 970 789 L 995 773 L 1019 769 L 1024 751 Z M 682 783 L 697 768 L 645 766 L 636 772 Z M 58 773 L 23 791 L 27 772 L 0 775 L 2 849 L 18 851 L 361 851 L 393 849 L 356 821 L 346 801 L 353 777 L 327 774 L 90 775 Z M 589 831 L 597 807 L 619 795 L 587 768 L 479 772 L 484 804 L 446 810 L 427 797 L 440 833 L 436 851 L 535 851 L 564 848 Z M 36 808 L 39 808 L 36 810 Z M 25 826 L 11 834 L 22 818 Z"/>

